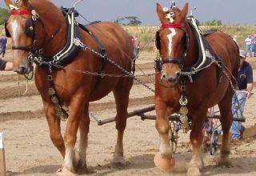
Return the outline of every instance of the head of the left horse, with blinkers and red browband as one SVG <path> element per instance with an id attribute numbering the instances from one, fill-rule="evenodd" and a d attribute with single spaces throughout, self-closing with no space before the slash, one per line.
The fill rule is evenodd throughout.
<path id="1" fill-rule="evenodd" d="M 31 54 L 42 54 L 46 45 L 49 46 L 56 29 L 47 27 L 38 11 L 34 10 L 34 7 L 38 6 L 37 1 L 5 0 L 5 2 L 10 9 L 10 18 L 5 24 L 5 30 L 6 37 L 12 38 L 13 42 L 14 71 L 18 74 L 27 74 L 32 64 Z M 45 1 L 45 3 L 45 6 L 49 6 L 51 2 Z M 47 13 L 50 15 L 50 10 Z M 45 12 L 44 15 L 47 13 Z M 52 16 L 54 18 L 54 15 Z M 59 17 L 58 14 L 57 16 Z M 58 28 L 61 26 L 58 22 L 55 23 Z"/>

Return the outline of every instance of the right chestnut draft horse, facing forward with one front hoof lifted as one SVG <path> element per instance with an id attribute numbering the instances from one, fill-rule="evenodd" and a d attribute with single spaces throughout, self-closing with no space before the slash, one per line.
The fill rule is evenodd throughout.
<path id="1" fill-rule="evenodd" d="M 188 3 L 182 10 L 176 6 L 162 8 L 157 4 L 162 27 L 156 35 L 160 58 L 156 61 L 155 126 L 160 136 L 160 154 L 156 155 L 155 164 L 163 170 L 171 170 L 174 166 L 168 117 L 170 114 L 180 113 L 181 121 L 182 118 L 190 118 L 192 122 L 192 159 L 187 174 L 199 175 L 202 127 L 206 121 L 207 109 L 216 104 L 222 117 L 220 122 L 223 130 L 219 163 L 230 164 L 231 98 L 234 94 L 232 86 L 236 83 L 233 75 L 238 70 L 239 58 L 238 46 L 230 36 L 222 32 L 208 34 L 205 40 L 202 39 L 204 37 L 198 39 L 200 33 L 194 30 L 198 29 L 195 20 L 194 25 L 189 22 L 193 16 L 186 18 L 187 13 Z M 207 52 L 201 50 L 202 41 L 208 43 Z M 206 64 L 207 62 L 209 63 Z M 186 121 L 183 123 L 188 125 Z M 184 128 L 187 127 L 186 124 L 183 124 Z M 166 162 L 162 162 L 164 160 L 170 166 L 166 166 Z"/>

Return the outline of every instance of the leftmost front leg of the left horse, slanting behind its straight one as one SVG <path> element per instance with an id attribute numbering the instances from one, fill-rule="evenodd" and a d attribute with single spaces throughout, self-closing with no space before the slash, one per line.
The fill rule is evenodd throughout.
<path id="1" fill-rule="evenodd" d="M 57 147 L 62 157 L 65 158 L 65 145 L 60 128 L 60 118 L 56 116 L 54 106 L 51 103 L 43 102 L 46 119 L 50 130 L 50 139 Z"/>

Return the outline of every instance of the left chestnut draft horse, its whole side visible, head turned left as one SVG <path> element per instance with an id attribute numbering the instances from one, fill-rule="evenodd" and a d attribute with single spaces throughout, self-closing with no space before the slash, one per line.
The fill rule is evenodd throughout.
<path id="1" fill-rule="evenodd" d="M 130 58 L 133 57 L 130 35 L 112 22 L 95 22 L 86 26 L 85 31 L 74 21 L 69 35 L 70 21 L 74 17 L 71 12 L 78 13 L 74 8 L 63 15 L 62 10 L 50 0 L 5 2 L 10 7 L 6 35 L 12 38 L 14 45 L 14 71 L 26 74 L 31 62 L 37 63 L 35 83 L 42 96 L 50 139 L 64 158 L 58 175 L 72 175 L 76 168 L 86 167 L 89 102 L 103 98 L 110 91 L 113 91 L 116 102 L 118 130 L 113 162 L 124 164 L 122 140 L 133 78 L 107 75 L 130 73 Z M 75 41 L 75 45 L 62 50 L 70 38 L 74 39 L 71 42 Z M 66 50 L 72 52 L 71 56 L 70 52 L 66 54 Z M 62 106 L 69 111 L 64 138 L 59 117 L 59 114 L 62 117 L 66 115 L 66 111 L 60 108 Z M 78 150 L 74 150 L 78 129 Z"/>

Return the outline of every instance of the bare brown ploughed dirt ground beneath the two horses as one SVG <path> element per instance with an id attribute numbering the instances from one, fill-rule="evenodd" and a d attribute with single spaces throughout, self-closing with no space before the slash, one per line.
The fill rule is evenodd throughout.
<path id="1" fill-rule="evenodd" d="M 143 52 L 138 59 L 136 75 L 154 74 L 154 54 Z M 6 55 L 10 59 L 10 52 Z M 256 66 L 255 58 L 248 59 Z M 256 71 L 254 70 L 254 73 Z M 5 135 L 6 174 L 7 175 L 55 175 L 62 166 L 62 157 L 49 138 L 49 130 L 42 112 L 42 100 L 34 86 L 28 84 L 25 91 L 25 79 L 20 79 L 12 72 L 0 73 L 0 131 Z M 146 77 L 139 76 L 147 85 L 154 85 Z M 152 76 L 151 79 L 154 80 Z M 254 74 L 254 78 L 255 74 Z M 203 175 L 256 175 L 256 138 L 255 138 L 255 97 L 246 102 L 245 117 L 246 138 L 232 145 L 230 168 L 215 166 L 215 155 L 204 154 Z M 135 82 L 131 91 L 129 111 L 154 105 L 154 94 Z M 90 104 L 90 112 L 97 118 L 114 117 L 114 98 L 109 94 L 101 101 Z M 151 112 L 154 114 L 154 111 Z M 62 130 L 66 122 L 62 122 Z M 164 173 L 154 166 L 154 154 L 158 152 L 158 132 L 154 121 L 142 121 L 139 117 L 129 118 L 124 136 L 126 166 L 122 169 L 110 165 L 113 158 L 117 131 L 115 124 L 98 126 L 91 118 L 89 148 L 87 150 L 87 170 L 80 170 L 79 175 L 185 175 L 190 162 L 191 150 L 189 133 L 179 133 L 176 166 L 174 172 Z"/>

